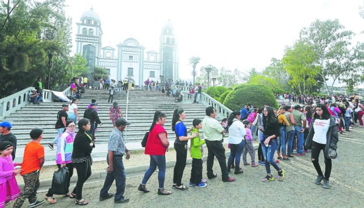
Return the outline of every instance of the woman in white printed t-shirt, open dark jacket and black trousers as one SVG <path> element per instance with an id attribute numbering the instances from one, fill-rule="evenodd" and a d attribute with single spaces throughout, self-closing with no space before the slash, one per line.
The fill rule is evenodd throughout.
<path id="1" fill-rule="evenodd" d="M 322 184 L 323 188 L 330 188 L 329 178 L 332 160 L 334 162 L 340 161 L 336 153 L 336 144 L 338 141 L 339 136 L 337 134 L 335 119 L 331 117 L 324 104 L 317 104 L 307 136 L 306 147 L 311 149 L 311 161 L 318 174 L 314 183 L 321 184 L 321 181 L 324 180 Z M 318 163 L 318 156 L 320 156 L 321 150 L 324 150 L 325 175 L 321 171 L 320 164 Z"/>

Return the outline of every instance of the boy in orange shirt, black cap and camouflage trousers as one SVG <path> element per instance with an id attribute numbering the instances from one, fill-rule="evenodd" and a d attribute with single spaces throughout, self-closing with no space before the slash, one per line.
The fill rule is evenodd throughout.
<path id="1" fill-rule="evenodd" d="M 23 164 L 20 168 L 20 175 L 23 176 L 24 179 L 24 189 L 16 199 L 13 206 L 14 208 L 20 208 L 27 198 L 29 201 L 29 208 L 44 203 L 44 200 L 37 200 L 39 171 L 44 164 L 44 147 L 39 143 L 43 138 L 43 130 L 35 128 L 29 135 L 33 140 L 25 146 Z"/>

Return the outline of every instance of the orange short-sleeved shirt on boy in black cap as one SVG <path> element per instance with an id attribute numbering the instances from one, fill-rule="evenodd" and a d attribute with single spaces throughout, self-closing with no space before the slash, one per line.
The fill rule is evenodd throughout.
<path id="1" fill-rule="evenodd" d="M 44 147 L 38 142 L 29 142 L 25 145 L 23 163 L 21 165 L 20 175 L 40 169 L 39 159 L 44 157 Z"/>

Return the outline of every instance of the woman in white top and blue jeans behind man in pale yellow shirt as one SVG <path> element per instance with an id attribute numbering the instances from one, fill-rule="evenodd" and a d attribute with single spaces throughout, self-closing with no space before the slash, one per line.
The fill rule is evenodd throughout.
<path id="1" fill-rule="evenodd" d="M 227 159 L 227 171 L 230 171 L 231 165 L 235 159 L 235 172 L 234 174 L 241 174 L 243 170 L 240 168 L 240 158 L 244 150 L 244 136 L 246 135 L 245 126 L 240 121 L 240 111 L 233 111 L 227 119 L 227 126 L 229 126 L 229 146 L 230 155 Z"/>

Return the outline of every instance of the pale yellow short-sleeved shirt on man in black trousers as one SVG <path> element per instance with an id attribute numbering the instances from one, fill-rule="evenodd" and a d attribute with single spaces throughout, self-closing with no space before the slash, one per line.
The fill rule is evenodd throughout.
<path id="1" fill-rule="evenodd" d="M 202 130 L 205 140 L 219 141 L 222 139 L 221 132 L 224 128 L 216 119 L 206 115 L 202 121 Z"/>

